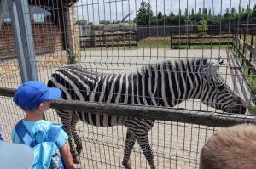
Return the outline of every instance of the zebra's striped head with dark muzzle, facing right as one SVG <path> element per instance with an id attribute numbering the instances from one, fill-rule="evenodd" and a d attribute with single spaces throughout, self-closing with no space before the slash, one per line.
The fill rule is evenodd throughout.
<path id="1" fill-rule="evenodd" d="M 201 101 L 218 110 L 229 113 L 245 114 L 247 106 L 245 102 L 230 89 L 224 82 L 224 78 L 218 74 L 220 59 L 208 63 L 202 70 Z"/>

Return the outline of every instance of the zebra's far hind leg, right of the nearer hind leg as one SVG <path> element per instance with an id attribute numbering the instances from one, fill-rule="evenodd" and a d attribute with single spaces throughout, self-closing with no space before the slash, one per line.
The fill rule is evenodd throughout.
<path id="1" fill-rule="evenodd" d="M 77 150 L 78 154 L 80 155 L 83 147 L 82 147 L 82 140 L 79 137 L 79 134 L 76 130 L 76 125 L 77 125 L 78 121 L 79 121 L 78 117 L 76 115 L 73 115 L 72 120 L 71 120 L 71 130 L 72 130 L 74 142 L 77 145 L 76 150 Z"/>

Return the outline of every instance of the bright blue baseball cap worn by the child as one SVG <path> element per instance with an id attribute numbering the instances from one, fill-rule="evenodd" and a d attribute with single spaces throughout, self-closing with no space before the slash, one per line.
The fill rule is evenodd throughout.
<path id="1" fill-rule="evenodd" d="M 15 92 L 14 102 L 22 110 L 32 110 L 46 100 L 61 98 L 61 90 L 47 87 L 43 82 L 28 81 L 20 85 Z"/>

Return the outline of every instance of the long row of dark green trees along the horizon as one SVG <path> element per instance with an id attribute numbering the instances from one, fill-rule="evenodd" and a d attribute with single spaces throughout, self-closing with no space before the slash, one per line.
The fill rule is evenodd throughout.
<path id="1" fill-rule="evenodd" d="M 237 11 L 236 11 L 237 10 Z M 195 11 L 194 8 L 188 10 L 185 8 L 184 11 L 179 10 L 178 14 L 163 14 L 161 11 L 154 16 L 151 6 L 149 3 L 142 2 L 141 7 L 138 10 L 137 18 L 134 20 L 137 25 L 170 25 L 170 24 L 189 24 L 189 25 L 200 25 L 205 23 L 207 25 L 224 23 L 237 23 L 241 22 L 252 22 L 256 20 L 256 5 L 251 9 L 248 5 L 247 8 L 226 8 L 224 14 L 214 14 L 211 8 L 198 8 Z M 204 20 L 201 22 L 201 20 Z"/>

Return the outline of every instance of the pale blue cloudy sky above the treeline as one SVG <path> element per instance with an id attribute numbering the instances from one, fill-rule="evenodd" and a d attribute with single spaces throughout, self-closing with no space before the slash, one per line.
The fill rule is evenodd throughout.
<path id="1" fill-rule="evenodd" d="M 132 14 L 133 20 L 140 8 L 142 0 L 79 0 L 75 4 L 78 19 L 89 20 L 98 23 L 99 20 L 122 20 L 126 14 Z M 198 12 L 199 8 L 213 8 L 214 14 L 224 14 L 226 8 L 236 8 L 239 4 L 241 8 L 250 5 L 253 8 L 256 0 L 145 0 L 151 4 L 154 15 L 159 11 L 169 15 L 171 12 L 178 14 L 179 9 L 184 13 L 185 8 L 194 8 Z"/>

